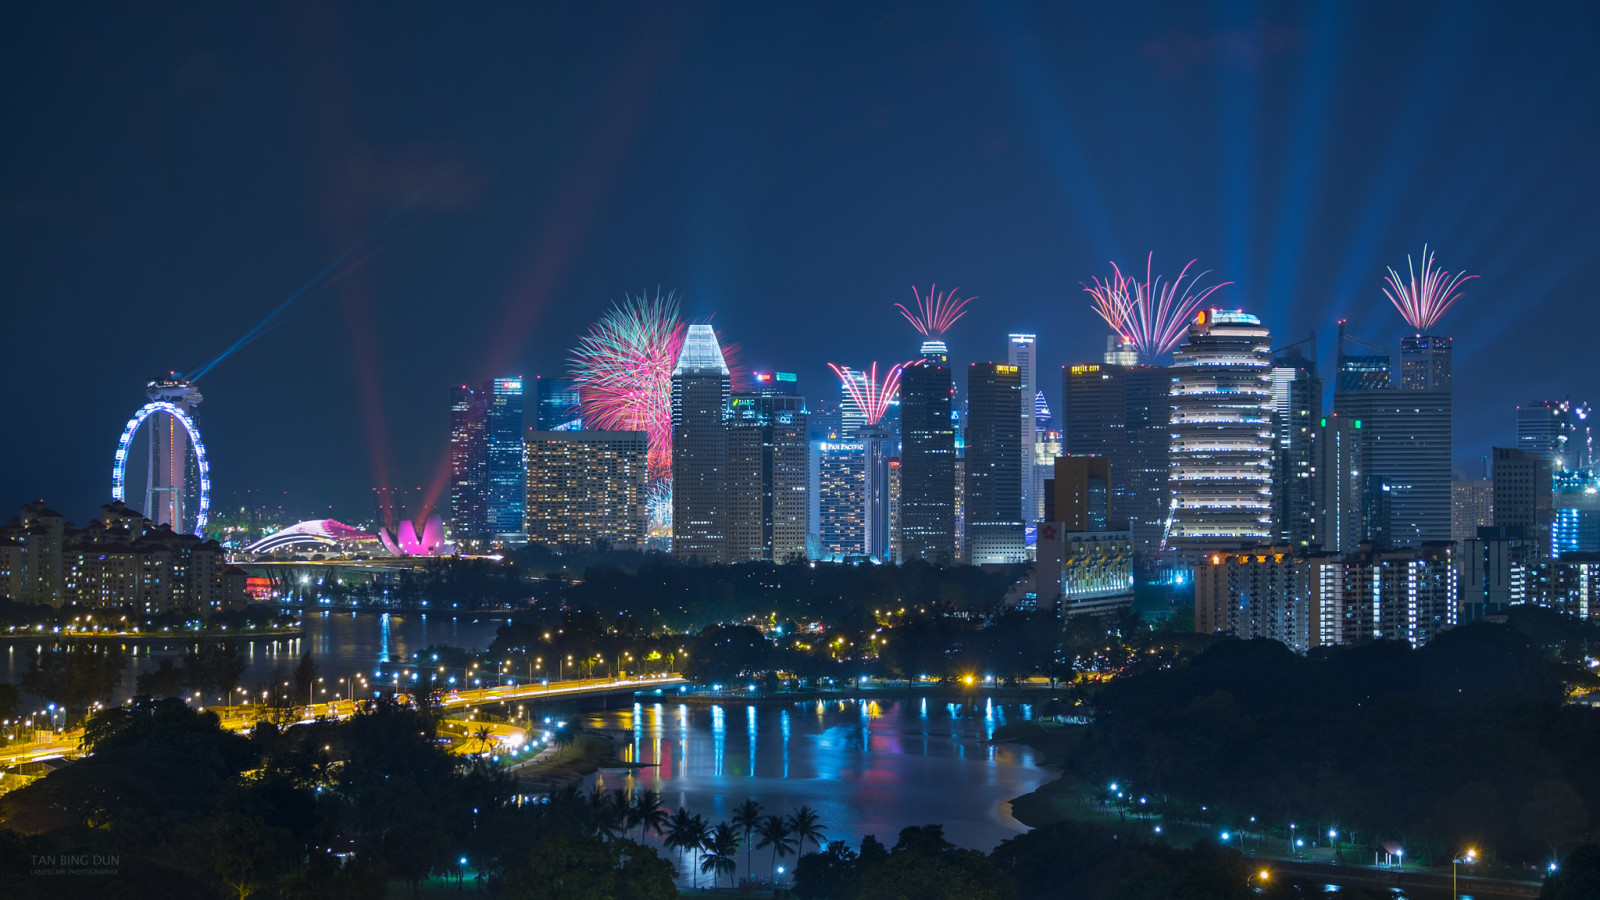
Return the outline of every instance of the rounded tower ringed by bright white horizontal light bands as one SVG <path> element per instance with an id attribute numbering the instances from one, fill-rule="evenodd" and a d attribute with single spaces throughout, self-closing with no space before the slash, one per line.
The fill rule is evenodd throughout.
<path id="1" fill-rule="evenodd" d="M 1166 548 L 1184 567 L 1272 535 L 1272 335 L 1248 312 L 1202 311 L 1171 373 Z"/>

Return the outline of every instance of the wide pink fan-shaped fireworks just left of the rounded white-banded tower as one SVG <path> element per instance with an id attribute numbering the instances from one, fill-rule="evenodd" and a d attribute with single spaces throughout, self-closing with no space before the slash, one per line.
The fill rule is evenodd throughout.
<path id="1" fill-rule="evenodd" d="M 1189 328 L 1189 319 L 1195 309 L 1206 301 L 1218 288 L 1234 282 L 1221 282 L 1208 288 L 1200 287 L 1200 279 L 1210 271 L 1189 274 L 1197 259 L 1178 272 L 1171 282 L 1157 279 L 1155 253 L 1144 263 L 1144 280 L 1125 277 L 1122 269 L 1112 263 L 1112 277 L 1106 282 L 1094 279 L 1094 287 L 1083 285 L 1094 301 L 1094 312 L 1106 320 L 1125 341 L 1133 344 L 1139 359 L 1155 360 L 1171 352 Z M 1187 283 L 1184 283 L 1187 279 Z"/>

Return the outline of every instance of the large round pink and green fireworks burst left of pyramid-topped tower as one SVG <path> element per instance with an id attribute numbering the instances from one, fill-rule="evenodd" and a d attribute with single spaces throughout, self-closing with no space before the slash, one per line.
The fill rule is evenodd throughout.
<path id="1" fill-rule="evenodd" d="M 650 436 L 650 479 L 672 477 L 672 367 L 688 327 L 675 293 L 624 296 L 570 359 L 584 424 Z"/>

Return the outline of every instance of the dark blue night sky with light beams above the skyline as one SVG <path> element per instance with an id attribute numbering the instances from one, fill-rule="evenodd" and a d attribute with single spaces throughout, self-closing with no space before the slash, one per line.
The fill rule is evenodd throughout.
<path id="1" fill-rule="evenodd" d="M 893 304 L 958 285 L 952 359 L 1037 331 L 1054 405 L 1109 259 L 1198 258 L 1326 376 L 1338 317 L 1398 343 L 1381 277 L 1424 242 L 1482 275 L 1438 328 L 1475 460 L 1518 402 L 1600 404 L 1597 42 L 1594 3 L 34 3 L 0 511 L 90 519 L 144 383 L 352 245 L 200 380 L 218 503 L 366 517 L 438 471 L 451 384 L 560 375 L 624 293 L 832 404 L 826 362 L 914 356 Z"/>

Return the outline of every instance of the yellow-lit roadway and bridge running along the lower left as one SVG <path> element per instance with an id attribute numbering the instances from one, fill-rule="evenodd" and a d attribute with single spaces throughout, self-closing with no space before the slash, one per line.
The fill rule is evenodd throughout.
<path id="1" fill-rule="evenodd" d="M 557 681 L 552 684 L 478 687 L 472 690 L 451 690 L 440 695 L 440 709 L 464 709 L 469 706 L 490 706 L 494 703 L 514 703 L 522 700 L 546 700 L 550 697 L 582 697 L 587 693 L 611 693 L 619 690 L 650 690 L 654 687 L 675 687 L 688 684 L 675 674 L 645 677 L 586 677 Z M 291 724 L 314 722 L 317 719 L 347 719 L 355 714 L 360 701 L 331 700 L 310 706 L 296 706 L 296 721 Z M 248 732 L 256 727 L 261 716 L 258 706 L 206 706 L 222 719 L 222 727 L 230 732 Z M 50 740 L 13 743 L 0 748 L 0 767 L 22 762 L 40 762 L 45 759 L 61 759 L 82 754 L 78 741 L 83 740 L 83 729 L 61 732 Z"/>

